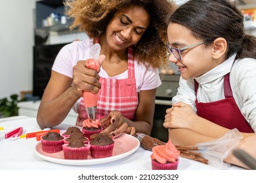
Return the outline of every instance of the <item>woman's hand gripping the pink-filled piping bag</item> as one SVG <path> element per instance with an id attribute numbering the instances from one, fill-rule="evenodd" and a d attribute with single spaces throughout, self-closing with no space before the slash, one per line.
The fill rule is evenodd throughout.
<path id="1" fill-rule="evenodd" d="M 104 55 L 101 55 L 98 60 L 102 63 L 105 59 Z M 72 89 L 75 95 L 79 97 L 83 96 L 83 91 L 97 93 L 100 90 L 100 76 L 94 69 L 86 67 L 86 61 L 77 61 L 77 64 L 73 67 L 73 82 Z"/>

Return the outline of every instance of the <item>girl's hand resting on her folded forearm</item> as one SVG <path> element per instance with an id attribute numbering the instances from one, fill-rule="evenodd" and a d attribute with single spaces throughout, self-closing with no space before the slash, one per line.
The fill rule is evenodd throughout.
<path id="1" fill-rule="evenodd" d="M 192 122 L 195 122 L 196 112 L 186 103 L 176 103 L 172 108 L 166 110 L 163 126 L 166 128 L 187 128 L 190 129 Z"/>

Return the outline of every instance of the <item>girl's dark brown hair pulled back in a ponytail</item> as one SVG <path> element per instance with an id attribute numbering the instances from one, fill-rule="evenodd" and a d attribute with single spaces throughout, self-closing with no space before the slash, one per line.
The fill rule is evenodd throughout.
<path id="1" fill-rule="evenodd" d="M 228 55 L 256 59 L 256 37 L 245 34 L 244 16 L 229 0 L 190 0 L 171 14 L 167 23 L 190 29 L 206 46 L 223 37 Z"/>

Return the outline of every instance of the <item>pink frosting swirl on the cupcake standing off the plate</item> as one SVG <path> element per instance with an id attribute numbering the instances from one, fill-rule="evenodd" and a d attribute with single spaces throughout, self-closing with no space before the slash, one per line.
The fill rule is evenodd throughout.
<path id="1" fill-rule="evenodd" d="M 152 148 L 152 155 L 150 158 L 156 159 L 159 163 L 174 163 L 179 159 L 179 156 L 181 152 L 177 150 L 175 145 L 173 145 L 173 142 L 171 139 L 168 140 L 168 142 L 161 146 L 154 146 Z"/>

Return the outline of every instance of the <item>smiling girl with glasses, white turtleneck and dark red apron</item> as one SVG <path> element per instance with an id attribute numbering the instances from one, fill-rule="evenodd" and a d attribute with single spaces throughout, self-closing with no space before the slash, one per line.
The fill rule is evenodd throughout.
<path id="1" fill-rule="evenodd" d="M 240 147 L 255 156 L 256 38 L 245 33 L 242 13 L 228 0 L 191 0 L 168 21 L 169 61 L 181 73 L 163 124 L 169 138 L 191 145 L 237 128 L 247 142 Z"/>

